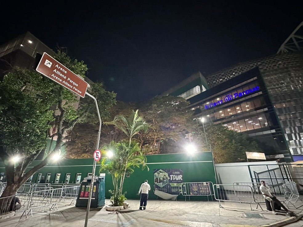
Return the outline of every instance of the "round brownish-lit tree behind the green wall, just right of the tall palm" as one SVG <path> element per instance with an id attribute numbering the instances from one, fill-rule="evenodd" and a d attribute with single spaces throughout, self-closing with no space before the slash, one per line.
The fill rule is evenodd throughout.
<path id="1" fill-rule="evenodd" d="M 184 134 L 195 128 L 192 121 L 193 112 L 188 109 L 189 101 L 174 96 L 163 96 L 152 98 L 142 106 L 142 113 L 146 121 L 151 125 L 147 133 L 139 133 L 141 145 L 148 144 L 157 147 L 157 152 L 164 152 L 160 144 L 169 141 L 182 141 Z M 180 145 L 181 143 L 177 143 Z M 176 146 L 180 150 L 180 146 Z M 175 150 L 174 153 L 177 153 Z"/>

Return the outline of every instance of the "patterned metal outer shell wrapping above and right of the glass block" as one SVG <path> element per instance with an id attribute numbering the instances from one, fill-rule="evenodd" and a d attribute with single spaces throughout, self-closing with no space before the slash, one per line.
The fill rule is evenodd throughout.
<path id="1" fill-rule="evenodd" d="M 303 51 L 275 54 L 239 63 L 206 77 L 216 87 L 244 72 L 259 68 L 273 111 L 292 155 L 303 154 Z"/>

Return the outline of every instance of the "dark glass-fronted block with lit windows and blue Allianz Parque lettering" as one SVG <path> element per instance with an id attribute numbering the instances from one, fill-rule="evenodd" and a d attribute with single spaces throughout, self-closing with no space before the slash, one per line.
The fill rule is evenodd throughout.
<path id="1" fill-rule="evenodd" d="M 291 161 L 291 154 L 258 68 L 188 99 L 204 125 L 222 124 L 257 139 L 267 160 Z M 200 125 L 202 126 L 202 124 Z"/>

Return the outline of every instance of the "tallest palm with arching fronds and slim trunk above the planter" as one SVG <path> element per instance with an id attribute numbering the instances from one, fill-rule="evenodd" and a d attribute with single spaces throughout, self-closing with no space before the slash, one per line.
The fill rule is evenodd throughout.
<path id="1" fill-rule="evenodd" d="M 134 137 L 136 134 L 138 134 L 141 131 L 146 133 L 147 129 L 150 127 L 150 125 L 147 122 L 145 122 L 143 117 L 138 115 L 138 110 L 136 110 L 136 112 L 132 111 L 131 115 L 129 117 L 124 117 L 122 115 L 115 116 L 113 121 L 106 122 L 105 124 L 115 125 L 123 133 L 125 133 L 126 136 L 128 137 L 128 146 L 124 147 L 123 161 L 121 160 L 121 164 L 124 168 L 123 175 L 121 177 L 121 182 L 120 182 L 120 193 L 122 193 L 124 177 L 125 177 L 125 173 L 127 170 L 127 165 L 129 163 L 129 159 L 130 158 L 132 159 L 133 158 L 132 156 L 135 156 L 135 152 L 133 152 L 134 147 L 133 148 L 131 147 L 131 139 L 132 139 L 132 137 Z M 141 149 L 139 148 L 139 150 L 137 152 L 139 152 L 139 154 L 140 154 Z M 141 152 L 141 155 L 142 155 L 142 152 Z M 143 157 L 143 155 L 142 155 L 142 157 Z M 133 161 L 135 161 L 135 160 L 133 160 Z M 142 165 L 142 167 L 143 167 L 143 165 Z"/>

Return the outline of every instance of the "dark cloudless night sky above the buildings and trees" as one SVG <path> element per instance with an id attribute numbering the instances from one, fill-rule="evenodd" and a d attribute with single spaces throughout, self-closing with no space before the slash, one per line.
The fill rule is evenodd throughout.
<path id="1" fill-rule="evenodd" d="M 275 54 L 303 21 L 299 1 L 5 2 L 0 44 L 30 31 L 53 50 L 67 47 L 124 102 Z"/>

